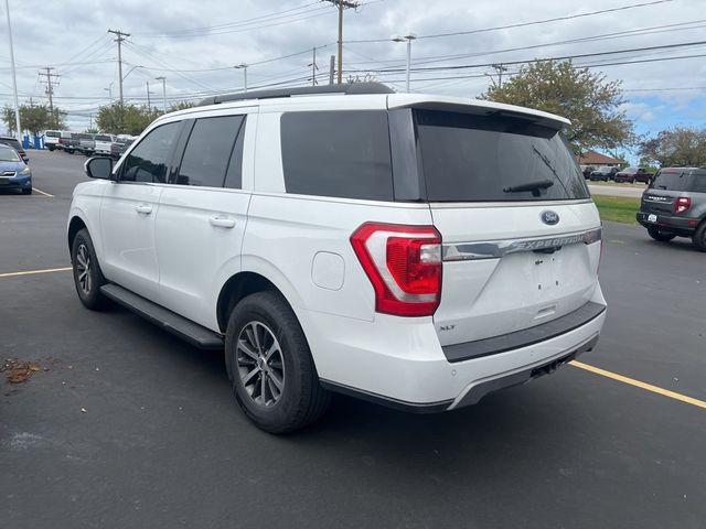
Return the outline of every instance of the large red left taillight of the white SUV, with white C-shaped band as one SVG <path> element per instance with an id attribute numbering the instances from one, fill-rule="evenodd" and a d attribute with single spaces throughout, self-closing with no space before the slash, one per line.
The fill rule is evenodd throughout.
<path id="1" fill-rule="evenodd" d="M 366 223 L 351 236 L 375 310 L 430 316 L 441 301 L 441 235 L 434 226 Z"/>

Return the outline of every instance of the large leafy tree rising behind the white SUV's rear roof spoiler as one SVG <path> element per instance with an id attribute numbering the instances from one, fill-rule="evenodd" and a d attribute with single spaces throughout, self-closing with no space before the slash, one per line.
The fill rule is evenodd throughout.
<path id="1" fill-rule="evenodd" d="M 625 102 L 619 80 L 571 61 L 538 61 L 520 68 L 502 84 L 493 84 L 481 99 L 558 114 L 571 120 L 567 139 L 576 153 L 587 149 L 613 150 L 638 140 L 633 122 L 620 110 Z"/>

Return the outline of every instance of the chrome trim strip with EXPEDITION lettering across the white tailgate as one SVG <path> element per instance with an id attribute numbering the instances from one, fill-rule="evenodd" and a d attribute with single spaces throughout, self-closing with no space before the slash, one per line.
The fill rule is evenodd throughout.
<path id="1" fill-rule="evenodd" d="M 601 228 L 559 234 L 552 237 L 526 237 L 522 239 L 483 240 L 473 242 L 446 244 L 442 248 L 443 262 L 500 259 L 509 253 L 523 251 L 559 249 L 563 246 L 590 245 L 601 240 Z"/>

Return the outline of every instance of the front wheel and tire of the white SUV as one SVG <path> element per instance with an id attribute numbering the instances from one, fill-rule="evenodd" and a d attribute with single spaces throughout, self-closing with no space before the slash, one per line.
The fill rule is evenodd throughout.
<path id="1" fill-rule="evenodd" d="M 96 250 L 87 229 L 79 230 L 71 245 L 71 262 L 74 269 L 74 285 L 78 299 L 86 309 L 99 311 L 109 305 L 109 300 L 100 292 L 106 279 L 100 271 Z M 83 272 L 87 273 L 83 276 Z"/>

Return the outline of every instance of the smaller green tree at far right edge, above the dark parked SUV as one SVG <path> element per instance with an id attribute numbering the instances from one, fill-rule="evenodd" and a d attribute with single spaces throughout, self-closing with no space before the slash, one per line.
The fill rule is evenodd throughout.
<path id="1" fill-rule="evenodd" d="M 663 130 L 640 143 L 639 154 L 662 168 L 706 165 L 706 129 L 674 127 Z"/>

